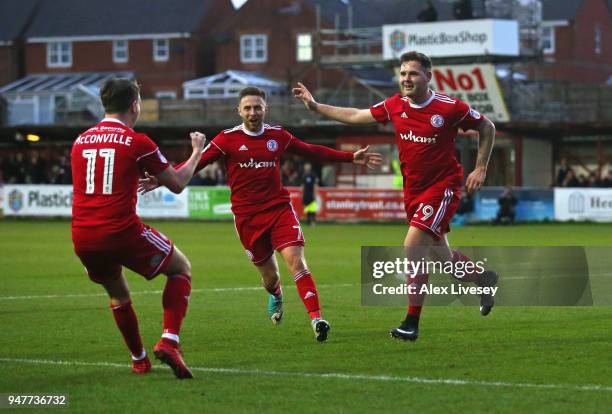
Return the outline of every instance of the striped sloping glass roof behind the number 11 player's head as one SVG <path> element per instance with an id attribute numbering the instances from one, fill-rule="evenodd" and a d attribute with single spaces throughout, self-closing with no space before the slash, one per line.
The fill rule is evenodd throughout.
<path id="1" fill-rule="evenodd" d="M 135 79 L 134 72 L 35 73 L 0 88 L 0 93 L 60 92 L 84 87 L 97 90 L 110 78 Z"/>

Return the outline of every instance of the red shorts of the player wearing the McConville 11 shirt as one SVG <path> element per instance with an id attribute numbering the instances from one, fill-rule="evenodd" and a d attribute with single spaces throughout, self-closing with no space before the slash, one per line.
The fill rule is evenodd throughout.
<path id="1" fill-rule="evenodd" d="M 81 259 L 87 275 L 96 283 L 118 278 L 121 266 L 153 279 L 170 261 L 174 244 L 162 233 L 146 224 L 140 231 L 126 231 L 113 245 L 84 249 L 78 243 L 74 251 Z"/>

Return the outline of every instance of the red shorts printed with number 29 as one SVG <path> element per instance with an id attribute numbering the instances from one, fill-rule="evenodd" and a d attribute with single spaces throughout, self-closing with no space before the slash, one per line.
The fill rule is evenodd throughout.
<path id="1" fill-rule="evenodd" d="M 440 240 L 450 231 L 450 222 L 459 206 L 461 187 L 442 182 L 406 200 L 406 216 L 411 226 Z"/>

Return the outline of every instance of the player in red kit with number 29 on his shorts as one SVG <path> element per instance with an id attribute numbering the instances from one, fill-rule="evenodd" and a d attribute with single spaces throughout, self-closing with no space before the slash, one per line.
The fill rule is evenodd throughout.
<path id="1" fill-rule="evenodd" d="M 476 168 L 467 178 L 468 192 L 477 191 L 485 181 L 495 140 L 495 126 L 485 116 L 455 98 L 429 88 L 431 59 L 418 52 L 400 58 L 400 92 L 369 109 L 340 108 L 315 101 L 304 85 L 293 89 L 306 108 L 347 124 L 393 123 L 404 179 L 404 206 L 410 222 L 404 246 L 407 258 L 417 262 L 425 257 L 441 261 L 467 262 L 458 250 L 451 250 L 446 233 L 459 204 L 463 169 L 455 157 L 458 128 L 473 129 L 480 135 Z M 419 292 L 428 280 L 425 272 L 411 274 L 409 282 Z M 485 271 L 461 278 L 479 286 L 493 286 L 497 274 Z M 408 312 L 402 324 L 391 331 L 395 338 L 416 340 L 424 295 L 408 295 Z M 481 295 L 480 313 L 493 307 L 491 295 Z"/>

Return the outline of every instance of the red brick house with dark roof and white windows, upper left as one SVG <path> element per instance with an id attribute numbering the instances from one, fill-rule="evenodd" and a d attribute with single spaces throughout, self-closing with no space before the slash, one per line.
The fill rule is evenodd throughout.
<path id="1" fill-rule="evenodd" d="M 40 0 L 26 32 L 25 71 L 133 71 L 143 97 L 180 97 L 212 68 L 210 26 L 224 0 Z"/>

